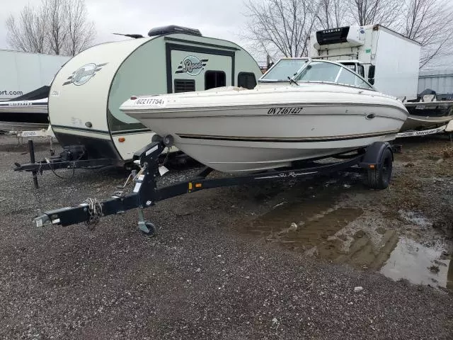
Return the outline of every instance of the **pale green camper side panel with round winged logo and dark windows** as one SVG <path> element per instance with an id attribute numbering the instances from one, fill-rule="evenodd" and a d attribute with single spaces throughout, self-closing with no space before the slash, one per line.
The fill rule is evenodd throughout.
<path id="1" fill-rule="evenodd" d="M 168 59 L 171 65 L 168 65 Z M 234 85 L 234 51 L 167 45 L 168 93 L 205 91 L 230 85 Z"/>

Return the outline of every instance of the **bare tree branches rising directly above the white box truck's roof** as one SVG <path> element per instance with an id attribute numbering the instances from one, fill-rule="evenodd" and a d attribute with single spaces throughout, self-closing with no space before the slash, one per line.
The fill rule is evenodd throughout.
<path id="1" fill-rule="evenodd" d="M 396 27 L 403 6 L 402 0 L 347 0 L 350 22 L 360 26 L 379 23 Z"/>

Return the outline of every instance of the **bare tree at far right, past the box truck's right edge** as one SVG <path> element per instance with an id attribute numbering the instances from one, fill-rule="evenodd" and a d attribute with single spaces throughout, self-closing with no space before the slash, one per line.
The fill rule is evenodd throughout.
<path id="1" fill-rule="evenodd" d="M 420 42 L 420 68 L 453 52 L 453 5 L 449 0 L 407 0 L 400 33 Z"/>

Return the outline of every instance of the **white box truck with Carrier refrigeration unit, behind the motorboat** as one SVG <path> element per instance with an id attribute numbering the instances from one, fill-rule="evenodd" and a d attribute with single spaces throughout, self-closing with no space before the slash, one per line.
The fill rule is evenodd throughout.
<path id="1" fill-rule="evenodd" d="M 319 30 L 310 35 L 311 58 L 341 62 L 377 91 L 415 99 L 421 45 L 381 25 Z"/>

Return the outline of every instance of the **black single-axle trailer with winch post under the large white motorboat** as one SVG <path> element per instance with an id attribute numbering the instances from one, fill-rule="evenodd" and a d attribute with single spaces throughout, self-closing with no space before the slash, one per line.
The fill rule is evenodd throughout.
<path id="1" fill-rule="evenodd" d="M 128 180 L 132 177 L 132 181 L 135 183 L 132 193 L 125 194 L 124 191 L 116 191 L 107 200 L 88 199 L 78 206 L 42 212 L 35 218 L 35 225 L 38 227 L 43 225 L 67 226 L 86 222 L 88 227 L 94 227 L 101 217 L 122 214 L 127 210 L 137 208 L 139 230 L 144 234 L 151 235 L 156 232 L 156 227 L 153 223 L 144 220 L 143 209 L 155 205 L 160 200 L 209 188 L 273 180 L 303 179 L 338 171 L 359 172 L 366 170 L 368 185 L 374 189 L 384 189 L 389 186 L 393 162 L 393 152 L 389 143 L 375 142 L 355 154 L 339 154 L 336 157 L 338 162 L 330 164 L 309 162 L 304 163 L 303 166 L 280 169 L 280 171 L 265 171 L 258 174 L 228 176 L 219 179 L 207 179 L 212 169 L 206 167 L 193 179 L 157 188 L 156 179 L 160 174 L 167 171 L 162 165 L 159 165 L 159 154 L 164 148 L 164 143 L 158 141 L 151 142 L 147 147 L 135 152 L 133 161 L 139 166 L 140 170 L 132 170 L 125 183 L 126 186 Z"/>

